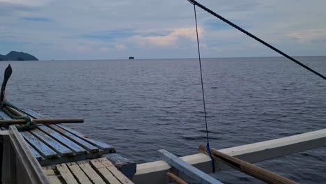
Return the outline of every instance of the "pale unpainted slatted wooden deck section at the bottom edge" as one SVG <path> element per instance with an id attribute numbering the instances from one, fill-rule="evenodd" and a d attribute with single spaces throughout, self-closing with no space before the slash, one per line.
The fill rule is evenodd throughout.
<path id="1" fill-rule="evenodd" d="M 43 167 L 43 169 L 52 184 L 132 183 L 106 158 L 56 164 L 54 167 Z"/>

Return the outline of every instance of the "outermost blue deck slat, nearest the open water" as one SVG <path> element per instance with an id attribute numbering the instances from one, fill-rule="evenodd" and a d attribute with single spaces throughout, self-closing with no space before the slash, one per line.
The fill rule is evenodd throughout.
<path id="1" fill-rule="evenodd" d="M 45 115 L 42 115 L 42 114 L 34 111 L 33 109 L 22 109 L 22 111 L 26 112 L 26 114 L 29 114 L 30 116 L 33 116 L 34 118 L 49 118 Z M 68 128 L 64 125 L 61 125 L 61 124 L 51 125 L 50 127 L 53 128 L 54 130 L 58 130 L 58 129 L 54 128 L 55 126 L 63 129 L 65 132 L 69 133 L 69 135 L 70 135 L 69 137 L 72 138 L 73 140 L 77 141 L 76 138 L 79 138 L 79 140 L 82 139 L 84 142 L 87 142 L 88 144 L 91 144 L 93 146 L 101 148 L 104 151 L 104 153 L 115 153 L 116 152 L 114 147 L 110 146 L 109 144 L 105 144 L 100 141 L 95 141 L 94 139 L 89 139 L 85 135 L 82 135 L 80 132 L 77 132 L 76 130 L 72 130 L 71 128 Z M 71 137 L 71 135 L 74 135 L 75 137 Z M 82 145 L 86 146 L 86 144 L 82 144 Z M 88 145 L 86 149 L 88 149 L 88 148 L 91 148 L 91 147 L 89 147 L 89 145 Z"/>

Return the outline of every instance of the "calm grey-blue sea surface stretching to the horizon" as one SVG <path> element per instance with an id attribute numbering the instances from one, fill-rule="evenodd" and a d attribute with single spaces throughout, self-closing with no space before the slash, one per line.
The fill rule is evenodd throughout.
<path id="1" fill-rule="evenodd" d="M 298 57 L 326 75 L 326 56 Z M 205 144 L 196 59 L 10 62 L 7 97 L 107 142 L 137 163 Z M 1 76 L 8 65 L 0 62 Z M 280 57 L 203 59 L 210 144 L 228 148 L 326 128 L 326 82 Z M 2 79 L 1 79 L 2 81 Z M 326 183 L 326 148 L 258 164 L 300 183 Z M 224 183 L 261 183 L 238 171 Z"/>

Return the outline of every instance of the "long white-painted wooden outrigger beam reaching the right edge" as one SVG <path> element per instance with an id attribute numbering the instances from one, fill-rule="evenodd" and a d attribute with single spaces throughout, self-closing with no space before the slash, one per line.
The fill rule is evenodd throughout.
<path id="1" fill-rule="evenodd" d="M 326 146 L 326 129 L 269 141 L 256 142 L 254 144 L 225 148 L 219 151 L 246 162 L 254 163 L 322 146 Z M 212 173 L 212 160 L 208 155 L 198 153 L 187 155 L 181 159 L 205 173 Z M 167 183 L 168 177 L 166 176 L 166 172 L 168 172 L 169 169 L 171 169 L 171 166 L 162 160 L 137 164 L 137 172 L 132 178 L 132 181 L 135 183 L 146 183 L 148 181 L 159 184 Z M 230 169 L 230 167 L 215 160 L 215 169 L 216 171 L 222 171 Z"/>

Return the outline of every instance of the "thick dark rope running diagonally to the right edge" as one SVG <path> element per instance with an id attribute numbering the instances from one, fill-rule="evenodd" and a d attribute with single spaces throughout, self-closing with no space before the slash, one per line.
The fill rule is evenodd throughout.
<path id="1" fill-rule="evenodd" d="M 313 74 L 318 75 L 319 77 L 326 80 L 326 77 L 319 72 L 316 72 L 315 70 L 309 68 L 309 66 L 304 65 L 300 61 L 297 61 L 297 59 L 294 59 L 293 57 L 289 56 L 288 54 L 285 54 L 284 52 L 281 52 L 281 50 L 277 49 L 276 47 L 273 47 L 269 43 L 266 43 L 264 40 L 261 40 L 261 38 L 258 38 L 257 36 L 254 36 L 253 34 L 249 33 L 248 31 L 242 29 L 240 26 L 234 24 L 233 22 L 227 20 L 226 18 L 222 17 L 221 15 L 218 15 L 217 13 L 213 12 L 212 10 L 206 8 L 205 6 L 201 5 L 201 3 L 198 3 L 195 0 L 188 0 L 190 3 L 192 3 L 194 6 L 198 6 L 199 8 L 205 10 L 206 12 L 212 14 L 213 16 L 217 17 L 219 20 L 222 20 L 226 24 L 229 24 L 230 26 L 233 26 L 235 29 L 238 29 L 242 33 L 246 34 L 247 36 L 253 38 L 254 40 L 258 41 L 259 43 L 265 45 L 266 47 L 269 47 L 270 49 L 274 50 L 275 52 L 281 54 L 282 56 L 285 56 L 287 59 L 290 59 L 290 61 L 293 61 L 297 63 L 298 65 L 302 66 L 306 70 L 309 70 L 310 72 L 313 72 Z"/>

